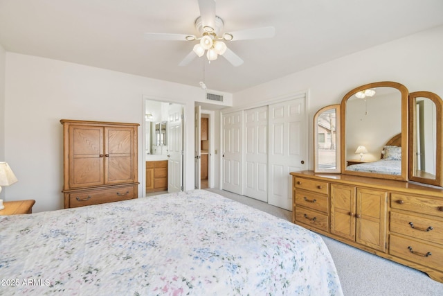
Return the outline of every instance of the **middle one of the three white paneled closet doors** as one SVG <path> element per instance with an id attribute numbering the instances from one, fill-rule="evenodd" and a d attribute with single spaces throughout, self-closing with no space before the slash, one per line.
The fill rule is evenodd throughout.
<path id="1" fill-rule="evenodd" d="M 244 111 L 244 195 L 268 201 L 268 106 Z"/>

